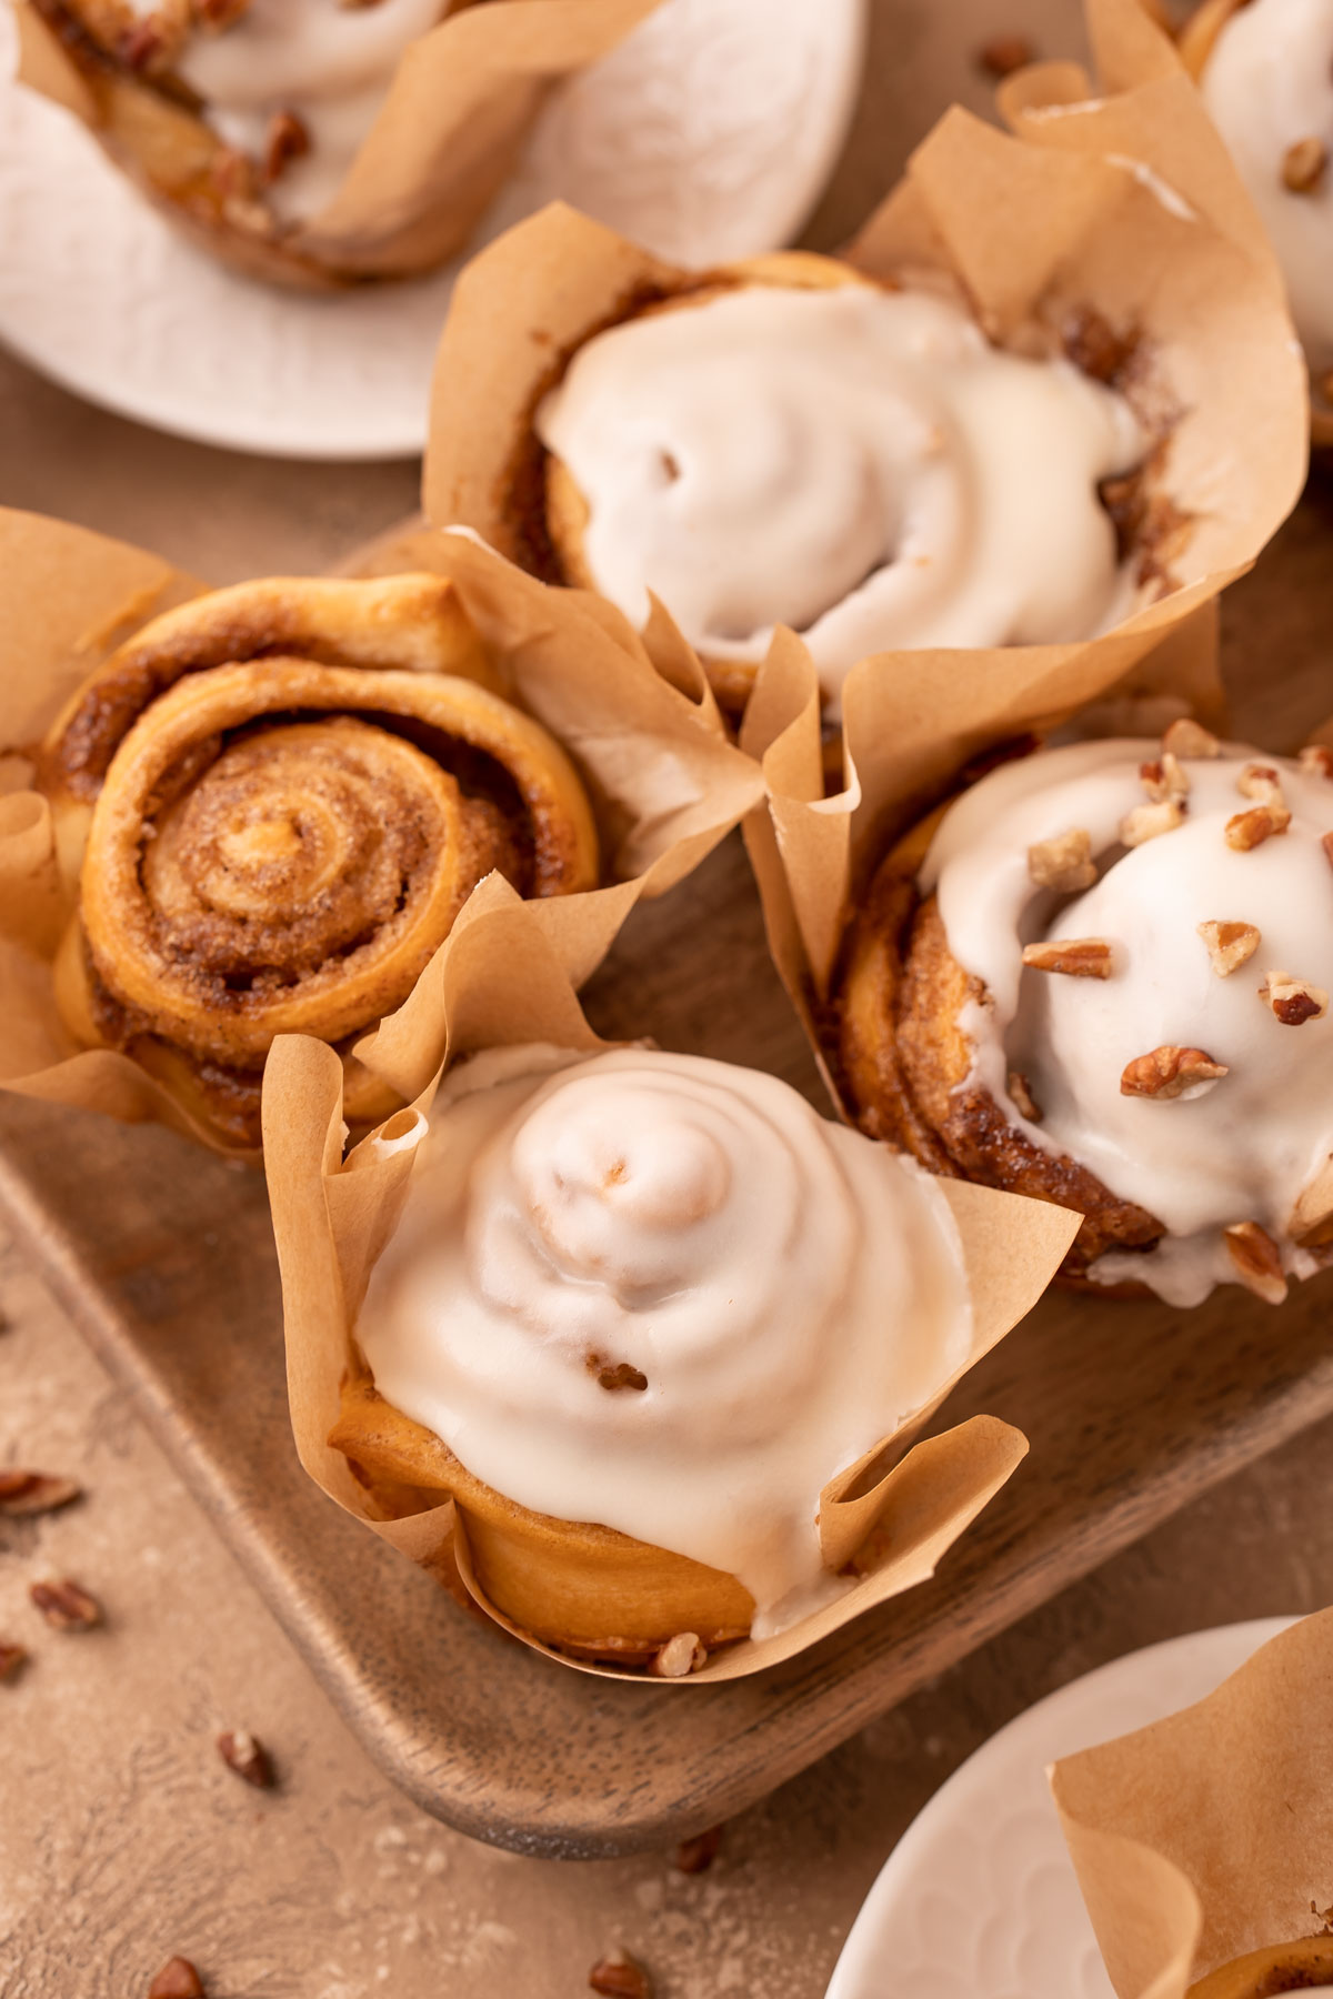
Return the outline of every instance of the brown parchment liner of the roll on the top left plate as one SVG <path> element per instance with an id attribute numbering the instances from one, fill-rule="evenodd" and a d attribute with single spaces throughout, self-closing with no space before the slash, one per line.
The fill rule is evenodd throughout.
<path id="1" fill-rule="evenodd" d="M 610 54 L 662 0 L 456 0 L 404 54 L 334 200 L 272 234 L 208 222 L 154 164 L 208 156 L 200 120 L 148 84 L 76 60 L 14 0 L 22 82 L 74 112 L 174 222 L 250 276 L 328 286 L 428 270 L 464 246 L 554 82 Z M 212 144 L 220 144 L 214 140 Z"/>

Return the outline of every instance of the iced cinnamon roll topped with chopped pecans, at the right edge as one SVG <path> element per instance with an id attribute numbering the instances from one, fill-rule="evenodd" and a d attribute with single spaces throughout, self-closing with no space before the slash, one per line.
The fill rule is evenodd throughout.
<path id="1" fill-rule="evenodd" d="M 1083 742 L 879 868 L 833 1019 L 865 1131 L 1085 1215 L 1065 1273 L 1279 1303 L 1333 1241 L 1333 754 Z"/>

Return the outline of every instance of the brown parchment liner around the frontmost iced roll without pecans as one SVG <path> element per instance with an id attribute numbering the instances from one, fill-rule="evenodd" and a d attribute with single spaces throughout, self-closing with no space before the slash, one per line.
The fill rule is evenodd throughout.
<path id="1" fill-rule="evenodd" d="M 608 1045 L 590 1029 L 554 944 L 532 912 L 534 906 L 520 902 L 498 876 L 472 896 L 440 954 L 440 978 L 430 988 L 434 1017 L 418 1009 L 412 1021 L 422 1065 L 434 1049 L 444 1049 L 444 1061 L 454 1063 L 480 1049 L 530 1041 L 590 1053 Z M 516 964 L 524 968 L 522 980 L 514 978 Z M 436 1083 L 432 1077 L 410 1109 L 344 1161 L 338 1057 L 304 1035 L 274 1041 L 264 1075 L 264 1151 L 282 1265 L 292 1429 L 306 1471 L 332 1499 L 414 1561 L 442 1577 L 456 1571 L 480 1609 L 514 1629 L 472 1575 L 454 1503 L 408 1519 L 374 1519 L 346 1457 L 326 1441 L 340 1413 L 344 1373 L 360 1365 L 352 1329 L 376 1257 L 402 1213 L 416 1155 L 412 1139 L 426 1129 Z M 1073 1237 L 1077 1215 L 961 1181 L 945 1183 L 945 1195 L 963 1237 L 975 1305 L 969 1367 L 1037 1301 Z M 691 1679 L 737 1679 L 789 1659 L 935 1571 L 1027 1451 L 1019 1431 L 977 1415 L 903 1455 L 959 1375 L 941 1385 L 907 1429 L 881 1439 L 821 1495 L 825 1559 L 837 1569 L 861 1553 L 863 1579 L 791 1631 L 715 1653 Z M 885 1453 L 891 1465 L 877 1463 Z M 578 1671 L 644 1677 L 550 1651 L 522 1629 L 514 1635 Z"/>

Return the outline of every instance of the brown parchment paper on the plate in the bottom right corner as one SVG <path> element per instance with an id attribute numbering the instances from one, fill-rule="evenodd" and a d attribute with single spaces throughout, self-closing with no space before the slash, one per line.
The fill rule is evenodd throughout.
<path id="1" fill-rule="evenodd" d="M 1049 1779 L 1119 1999 L 1333 1929 L 1333 1611 Z"/>

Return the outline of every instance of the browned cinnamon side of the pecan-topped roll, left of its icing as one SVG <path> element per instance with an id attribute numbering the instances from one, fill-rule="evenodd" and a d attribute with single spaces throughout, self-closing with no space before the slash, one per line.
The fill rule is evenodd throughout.
<path id="1" fill-rule="evenodd" d="M 1087 1267 L 1107 1249 L 1151 1249 L 1163 1223 L 1077 1159 L 1033 1143 L 989 1089 L 961 1087 L 973 1047 L 957 1015 L 969 1000 L 983 1001 L 983 988 L 951 956 L 935 898 L 917 892 L 935 824 L 921 822 L 885 856 L 849 924 L 821 1017 L 843 1099 L 861 1131 L 931 1173 L 1081 1213 L 1061 1279 L 1099 1297 L 1133 1295 L 1143 1287 L 1091 1283 Z"/>

